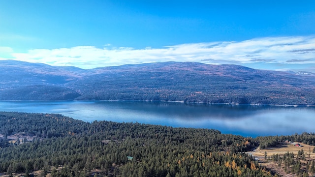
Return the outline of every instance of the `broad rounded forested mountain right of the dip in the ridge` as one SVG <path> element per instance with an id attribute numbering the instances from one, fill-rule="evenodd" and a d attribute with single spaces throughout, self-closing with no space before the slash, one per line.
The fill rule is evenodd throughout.
<path id="1" fill-rule="evenodd" d="M 76 99 L 315 104 L 315 78 L 239 65 L 165 62 L 94 72 L 66 84 L 81 94 Z"/>

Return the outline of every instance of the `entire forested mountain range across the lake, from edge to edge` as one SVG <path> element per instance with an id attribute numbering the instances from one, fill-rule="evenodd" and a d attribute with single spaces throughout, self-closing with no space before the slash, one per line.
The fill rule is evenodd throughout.
<path id="1" fill-rule="evenodd" d="M 198 62 L 94 69 L 0 60 L 0 100 L 315 105 L 315 75 Z"/>

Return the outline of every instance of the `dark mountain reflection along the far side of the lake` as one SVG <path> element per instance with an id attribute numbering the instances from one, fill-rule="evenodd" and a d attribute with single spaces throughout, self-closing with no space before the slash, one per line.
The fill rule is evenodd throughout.
<path id="1" fill-rule="evenodd" d="M 155 114 L 160 117 L 180 119 L 237 119 L 250 118 L 265 112 L 285 110 L 314 110 L 313 107 L 283 107 L 268 105 L 230 105 L 230 104 L 196 104 L 160 101 L 105 101 L 96 105 L 119 107 L 121 109 Z"/>

